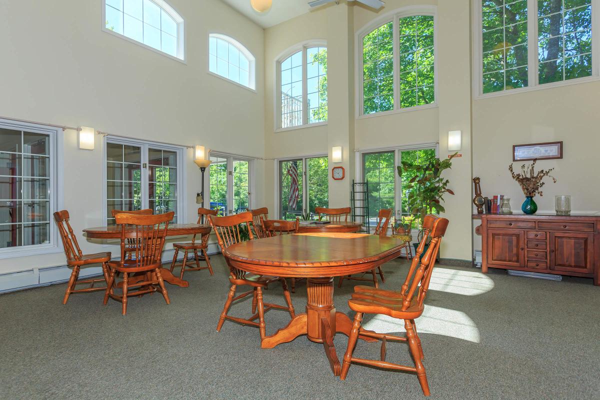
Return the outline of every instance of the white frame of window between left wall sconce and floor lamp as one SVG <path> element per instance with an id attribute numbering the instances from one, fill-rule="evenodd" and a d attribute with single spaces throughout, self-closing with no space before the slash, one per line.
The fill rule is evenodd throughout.
<path id="1" fill-rule="evenodd" d="M 148 208 L 148 188 L 149 188 L 149 179 L 148 179 L 148 148 L 152 149 L 161 149 L 168 151 L 177 152 L 177 221 L 180 224 L 185 223 L 187 221 L 187 207 L 186 207 L 186 196 L 185 196 L 185 170 L 184 170 L 184 160 L 187 160 L 186 156 L 186 148 L 183 146 L 173 146 L 166 145 L 160 142 L 148 142 L 146 140 L 137 140 L 137 139 L 125 139 L 123 137 L 117 136 L 104 136 L 103 139 L 103 172 L 102 172 L 102 221 L 106 225 L 107 219 L 109 218 L 107 212 L 107 143 L 115 143 L 118 145 L 130 145 L 130 146 L 138 146 L 142 148 L 142 182 L 141 182 L 141 197 L 142 197 L 142 209 Z M 146 167 L 143 166 L 146 164 Z M 154 210 L 152 210 L 154 212 Z"/>

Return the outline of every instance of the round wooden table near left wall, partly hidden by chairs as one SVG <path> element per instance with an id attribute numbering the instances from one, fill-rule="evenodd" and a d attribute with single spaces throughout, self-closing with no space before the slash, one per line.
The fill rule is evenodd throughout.
<path id="1" fill-rule="evenodd" d="M 169 224 L 167 236 L 187 236 L 191 234 L 202 234 L 202 236 L 204 236 L 205 234 L 211 233 L 211 229 L 212 227 L 209 224 Z M 85 228 L 83 232 L 89 239 L 121 239 L 121 226 L 118 225 Z M 126 236 L 135 237 L 135 232 L 136 231 L 132 227 L 127 230 Z M 164 281 L 169 282 L 170 284 L 181 287 L 190 286 L 190 282 L 177 278 L 166 268 L 161 268 L 160 273 L 163 275 Z M 141 275 L 140 280 L 143 280 L 143 278 L 143 275 Z M 130 284 L 136 282 L 136 276 L 130 278 Z"/>

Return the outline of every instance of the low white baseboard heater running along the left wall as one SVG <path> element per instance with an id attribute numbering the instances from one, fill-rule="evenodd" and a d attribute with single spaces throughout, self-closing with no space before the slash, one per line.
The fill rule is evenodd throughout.
<path id="1" fill-rule="evenodd" d="M 162 260 L 164 263 L 173 260 L 173 252 L 174 249 L 163 251 Z M 212 255 L 219 252 L 220 250 L 217 243 L 208 245 L 208 254 Z M 178 260 L 181 260 L 182 258 L 183 252 L 180 251 Z M 113 257 L 113 260 L 117 259 L 118 257 Z M 84 267 L 79 272 L 79 278 L 88 278 L 99 275 L 102 275 L 102 268 L 100 266 Z M 3 273 L 0 274 L 0 294 L 68 282 L 70 276 L 71 269 L 66 265 Z"/>

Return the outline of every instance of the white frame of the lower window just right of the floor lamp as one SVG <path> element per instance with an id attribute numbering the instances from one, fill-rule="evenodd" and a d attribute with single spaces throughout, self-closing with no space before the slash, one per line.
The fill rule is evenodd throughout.
<path id="1" fill-rule="evenodd" d="M 210 157 L 219 157 L 227 159 L 227 206 L 233 207 L 233 160 L 248 161 L 248 208 L 252 209 L 256 203 L 256 158 L 244 155 L 230 154 L 218 151 L 211 151 Z M 206 179 L 204 181 L 204 193 L 207 194 L 204 200 L 204 207 L 211 207 L 211 168 L 206 169 Z M 208 200 L 208 204 L 207 201 Z M 235 210 L 227 209 L 226 215 L 235 214 Z"/>

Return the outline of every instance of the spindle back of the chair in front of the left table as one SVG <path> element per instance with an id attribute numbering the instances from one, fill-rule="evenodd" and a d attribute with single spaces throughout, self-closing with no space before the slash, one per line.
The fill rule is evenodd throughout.
<path id="1" fill-rule="evenodd" d="M 175 216 L 173 211 L 159 215 L 116 214 L 116 224 L 121 225 L 121 261 L 125 262 L 127 255 L 125 251 L 127 239 L 134 239 L 134 242 L 139 244 L 136 246 L 136 257 L 127 260 L 130 261 L 129 264 L 135 261 L 136 267 L 157 263 L 160 265 L 164 239 L 167 237 L 167 228 L 169 222 L 173 221 L 173 216 Z M 128 229 L 128 225 L 133 227 L 133 231 Z M 130 254 L 133 255 L 133 252 Z"/>

